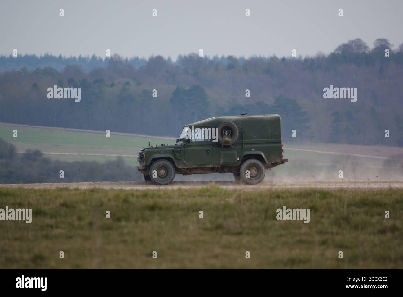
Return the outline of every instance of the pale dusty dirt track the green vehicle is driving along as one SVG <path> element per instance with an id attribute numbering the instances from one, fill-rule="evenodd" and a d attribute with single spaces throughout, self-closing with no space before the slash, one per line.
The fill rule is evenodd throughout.
<path id="1" fill-rule="evenodd" d="M 316 189 L 356 189 L 356 190 L 374 190 L 392 188 L 403 188 L 403 181 L 303 181 L 303 182 L 281 182 L 281 181 L 264 181 L 259 185 L 239 185 L 233 181 L 174 181 L 168 186 L 157 186 L 145 184 L 143 182 L 96 182 L 96 183 L 27 183 L 27 184 L 9 184 L 0 185 L 0 187 L 25 187 L 33 189 L 54 189 L 57 187 L 69 187 L 71 189 L 125 189 L 125 190 L 172 190 L 178 188 L 196 188 L 216 185 L 226 189 L 242 189 L 242 190 L 272 190 L 272 189 L 299 189 L 299 188 L 316 188 Z"/>

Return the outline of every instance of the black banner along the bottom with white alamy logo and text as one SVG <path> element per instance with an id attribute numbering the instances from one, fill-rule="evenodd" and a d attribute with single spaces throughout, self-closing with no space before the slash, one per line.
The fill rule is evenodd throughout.
<path id="1" fill-rule="evenodd" d="M 0 270 L 2 293 L 214 293 L 263 289 L 290 292 L 353 291 L 376 293 L 399 289 L 401 270 Z M 23 284 L 24 280 L 24 284 Z M 24 286 L 24 288 L 23 288 Z M 36 286 L 27 288 L 26 286 Z M 145 290 L 145 291 L 143 291 Z M 192 290 L 192 291 L 188 291 Z M 208 291 L 206 291 L 208 290 Z M 326 290 L 326 291 L 324 291 Z M 249 291 L 250 293 L 250 291 Z M 4 295 L 6 296 L 6 295 Z"/>

